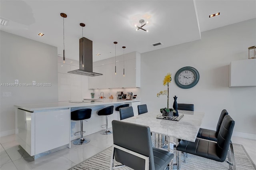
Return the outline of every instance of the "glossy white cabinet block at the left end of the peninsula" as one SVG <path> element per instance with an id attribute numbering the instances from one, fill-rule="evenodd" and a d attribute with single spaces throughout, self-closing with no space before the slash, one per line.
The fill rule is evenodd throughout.
<path id="1" fill-rule="evenodd" d="M 70 144 L 70 109 L 30 112 L 16 109 L 16 140 L 34 156 Z"/>

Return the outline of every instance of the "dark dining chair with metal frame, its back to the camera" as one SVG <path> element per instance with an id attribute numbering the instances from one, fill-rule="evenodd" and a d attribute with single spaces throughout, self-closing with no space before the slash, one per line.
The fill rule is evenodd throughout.
<path id="1" fill-rule="evenodd" d="M 134 170 L 164 170 L 174 154 L 152 147 L 150 127 L 112 121 L 113 146 L 110 170 L 128 166 Z M 122 165 L 114 166 L 114 161 Z"/>

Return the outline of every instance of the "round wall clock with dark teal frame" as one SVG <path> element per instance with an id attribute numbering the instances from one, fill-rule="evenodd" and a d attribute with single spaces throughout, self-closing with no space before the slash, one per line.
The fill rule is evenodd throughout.
<path id="1" fill-rule="evenodd" d="M 182 67 L 175 74 L 175 83 L 182 89 L 194 87 L 199 81 L 199 73 L 194 67 Z"/>

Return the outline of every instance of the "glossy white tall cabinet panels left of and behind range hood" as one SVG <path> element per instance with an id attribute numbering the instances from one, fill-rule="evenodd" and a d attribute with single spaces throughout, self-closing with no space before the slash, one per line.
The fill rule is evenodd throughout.
<path id="1" fill-rule="evenodd" d="M 88 76 L 70 74 L 68 71 L 79 69 L 79 61 L 58 57 L 58 101 L 81 101 L 91 98 L 88 89 Z"/>

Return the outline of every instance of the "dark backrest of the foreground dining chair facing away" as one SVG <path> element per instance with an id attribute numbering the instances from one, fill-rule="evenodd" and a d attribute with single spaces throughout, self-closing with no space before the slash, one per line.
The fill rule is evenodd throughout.
<path id="1" fill-rule="evenodd" d="M 127 123 L 122 121 L 112 121 L 114 144 L 132 150 L 144 156 L 149 156 L 150 170 L 154 170 L 154 155 L 150 136 L 150 128 L 147 126 Z M 145 162 L 142 158 L 115 150 L 116 161 L 135 170 L 145 169 Z"/>

